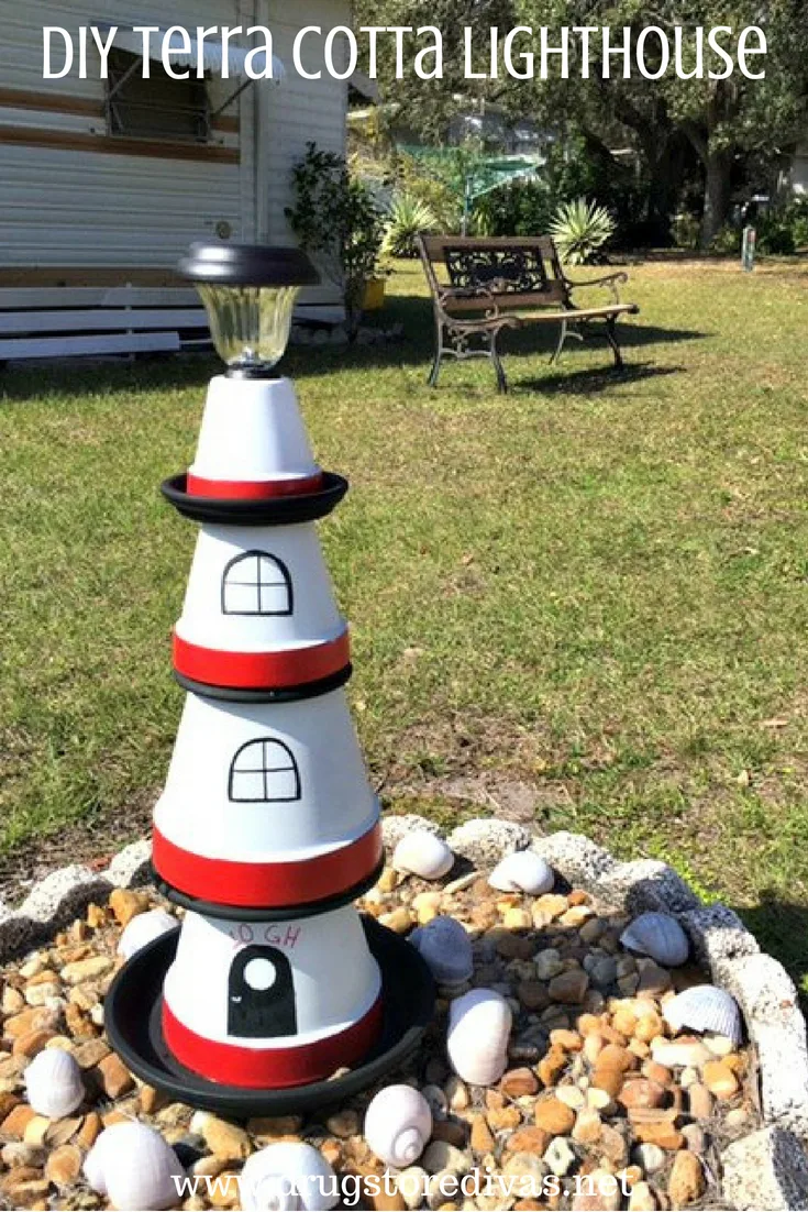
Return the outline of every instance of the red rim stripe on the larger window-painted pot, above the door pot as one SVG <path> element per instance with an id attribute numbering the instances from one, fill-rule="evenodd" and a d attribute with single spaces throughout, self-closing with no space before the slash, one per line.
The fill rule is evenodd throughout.
<path id="1" fill-rule="evenodd" d="M 191 830 L 193 835 L 193 830 Z M 157 875 L 178 892 L 222 905 L 282 909 L 338 896 L 366 879 L 382 858 L 382 828 L 356 841 L 299 863 L 234 863 L 182 850 L 159 829 L 151 861 Z"/>

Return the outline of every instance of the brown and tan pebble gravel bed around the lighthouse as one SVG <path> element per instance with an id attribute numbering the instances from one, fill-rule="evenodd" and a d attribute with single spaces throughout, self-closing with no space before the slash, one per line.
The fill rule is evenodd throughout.
<path id="1" fill-rule="evenodd" d="M 115 888 L 51 943 L 0 970 L 0 1206 L 108 1206 L 82 1165 L 99 1132 L 127 1119 L 156 1127 L 187 1174 L 201 1180 L 196 1194 L 177 1201 L 189 1212 L 239 1207 L 235 1176 L 254 1150 L 279 1139 L 315 1144 L 339 1174 L 382 1176 L 385 1166 L 362 1136 L 373 1091 L 320 1120 L 236 1125 L 170 1103 L 128 1073 L 104 1037 L 103 997 L 120 964 L 122 926 L 155 905 L 170 908 L 150 887 Z M 425 1094 L 431 1140 L 400 1190 L 392 1184 L 376 1195 L 369 1184 L 344 1206 L 730 1206 L 722 1201 L 722 1154 L 763 1122 L 755 1050 L 677 1034 L 664 1019 L 670 997 L 709 981 L 701 967 L 669 970 L 629 954 L 619 942 L 628 914 L 600 909 L 562 880 L 529 897 L 498 892 L 462 865 L 434 882 L 386 868 L 360 907 L 400 933 L 439 915 L 463 922 L 474 943 L 471 984 L 503 994 L 514 1025 L 503 1077 L 488 1088 L 469 1086 L 447 1059 L 449 996 L 442 991 L 417 1063 L 390 1079 Z M 82 1069 L 86 1098 L 67 1119 L 48 1120 L 25 1100 L 25 1068 L 44 1048 L 70 1051 Z M 486 1176 L 510 1179 L 515 1194 L 485 1194 Z M 518 1178 L 544 1180 L 541 1199 L 520 1196 Z M 458 1193 L 447 1197 L 452 1179 Z M 413 1194 L 419 1184 L 423 1202 Z"/>

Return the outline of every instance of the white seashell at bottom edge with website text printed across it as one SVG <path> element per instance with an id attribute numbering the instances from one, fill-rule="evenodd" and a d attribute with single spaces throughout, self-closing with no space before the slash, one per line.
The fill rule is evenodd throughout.
<path id="1" fill-rule="evenodd" d="M 243 1212 L 320 1212 L 339 1201 L 339 1184 L 310 1144 L 270 1144 L 252 1157 L 239 1180 Z"/>

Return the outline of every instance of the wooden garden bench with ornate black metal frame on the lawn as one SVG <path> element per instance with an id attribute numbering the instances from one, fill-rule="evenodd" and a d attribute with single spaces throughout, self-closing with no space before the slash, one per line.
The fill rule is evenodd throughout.
<path id="1" fill-rule="evenodd" d="M 620 303 L 618 286 L 629 280 L 628 274 L 617 271 L 574 282 L 565 274 L 549 236 L 418 235 L 417 242 L 435 313 L 437 348 L 430 387 L 437 383 L 445 356 L 489 358 L 497 387 L 506 391 L 497 341 L 503 328 L 517 328 L 526 322 L 561 326 L 551 359 L 555 362 L 567 337 L 583 341 L 578 325 L 601 320 L 614 362 L 623 366 L 617 321 L 638 310 L 636 303 Z M 448 282 L 439 281 L 440 265 Z M 573 291 L 583 286 L 604 287 L 611 302 L 602 307 L 578 307 Z"/>

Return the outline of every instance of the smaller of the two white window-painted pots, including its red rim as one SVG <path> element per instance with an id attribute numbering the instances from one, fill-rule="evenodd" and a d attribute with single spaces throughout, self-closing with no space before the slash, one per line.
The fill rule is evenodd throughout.
<path id="1" fill-rule="evenodd" d="M 202 526 L 174 668 L 213 686 L 275 688 L 319 681 L 349 662 L 314 524 Z"/>

